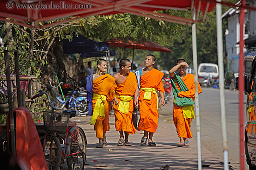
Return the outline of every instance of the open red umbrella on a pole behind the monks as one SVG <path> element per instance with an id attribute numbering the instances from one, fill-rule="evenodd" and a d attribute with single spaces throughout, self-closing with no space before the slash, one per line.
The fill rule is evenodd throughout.
<path id="1" fill-rule="evenodd" d="M 146 42 L 137 42 L 128 40 L 124 42 L 121 38 L 107 40 L 106 43 L 112 47 L 122 47 L 122 48 L 131 48 L 133 49 L 133 57 L 132 57 L 132 64 L 134 58 L 134 49 L 141 49 L 141 50 L 150 50 L 150 51 L 161 51 L 161 52 L 172 52 L 170 49 L 163 47 L 160 44 L 155 42 L 146 41 Z"/>

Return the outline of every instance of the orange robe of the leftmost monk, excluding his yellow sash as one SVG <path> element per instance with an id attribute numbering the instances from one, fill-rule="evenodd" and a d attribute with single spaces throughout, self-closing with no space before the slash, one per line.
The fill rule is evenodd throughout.
<path id="1" fill-rule="evenodd" d="M 115 98 L 115 78 L 109 74 L 102 75 L 93 81 L 93 93 L 106 96 L 105 102 L 105 117 L 98 116 L 94 125 L 97 138 L 103 138 L 103 132 L 109 131 L 108 113 L 109 105 L 108 101 L 112 101 Z M 97 99 L 93 99 L 93 110 Z"/>

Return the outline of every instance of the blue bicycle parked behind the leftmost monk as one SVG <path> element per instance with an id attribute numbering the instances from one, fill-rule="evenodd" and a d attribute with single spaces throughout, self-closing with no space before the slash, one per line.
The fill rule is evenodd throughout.
<path id="1" fill-rule="evenodd" d="M 50 85 L 52 88 L 58 88 L 58 87 L 60 87 L 61 84 L 63 84 L 61 82 L 60 85 L 55 87 L 52 85 L 51 79 L 49 79 L 49 82 L 50 82 Z M 78 84 L 78 82 L 76 82 L 75 84 Z M 74 91 L 72 91 L 71 88 L 69 88 L 69 91 L 67 90 L 64 93 L 66 95 L 71 94 L 69 101 L 68 101 L 68 107 L 74 107 L 74 109 L 77 110 L 80 115 L 87 115 L 89 113 L 88 104 L 87 104 L 87 94 L 86 94 L 85 89 L 81 88 L 80 86 L 77 86 Z M 78 97 L 74 98 L 73 97 L 74 94 L 78 94 Z M 62 104 L 64 104 L 66 101 L 65 98 L 64 98 L 64 100 L 62 100 L 58 95 L 56 96 L 56 99 L 57 99 L 57 101 L 61 102 Z M 53 106 L 54 106 L 54 104 L 55 104 L 55 101 L 53 103 Z"/>

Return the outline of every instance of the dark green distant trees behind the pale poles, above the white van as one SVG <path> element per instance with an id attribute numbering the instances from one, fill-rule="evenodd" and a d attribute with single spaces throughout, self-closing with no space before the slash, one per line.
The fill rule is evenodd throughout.
<path id="1" fill-rule="evenodd" d="M 225 13 L 229 7 L 222 6 L 222 13 Z M 173 45 L 167 46 L 172 50 L 171 53 L 158 53 L 156 56 L 156 63 L 161 65 L 161 69 L 171 69 L 179 58 L 185 59 L 189 65 L 193 65 L 192 54 L 192 32 L 191 26 L 182 27 L 180 34 L 173 36 Z M 225 47 L 225 29 L 227 28 L 227 21 L 223 19 L 222 33 L 223 33 L 223 47 Z M 216 63 L 217 60 L 217 36 L 216 36 L 216 9 L 207 14 L 205 22 L 196 24 L 196 45 L 197 45 L 197 63 Z M 225 48 L 223 48 L 225 49 Z M 223 51 L 223 54 L 225 52 Z M 225 55 L 224 61 L 225 60 Z M 226 64 L 226 63 L 224 63 Z M 227 67 L 224 67 L 227 68 Z"/>

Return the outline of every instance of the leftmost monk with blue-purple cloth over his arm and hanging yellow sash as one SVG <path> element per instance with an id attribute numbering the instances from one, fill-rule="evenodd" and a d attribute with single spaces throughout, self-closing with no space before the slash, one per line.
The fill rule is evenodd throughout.
<path id="1" fill-rule="evenodd" d="M 107 71 L 106 60 L 99 59 L 97 61 L 98 72 L 87 77 L 87 102 L 89 114 L 93 111 L 91 125 L 94 125 L 96 137 L 99 138 L 97 148 L 103 147 L 102 139 L 106 139 L 106 131 L 109 131 L 108 101 L 115 98 L 115 78 L 109 74 L 104 74 Z M 116 100 L 116 102 L 118 102 Z"/>

